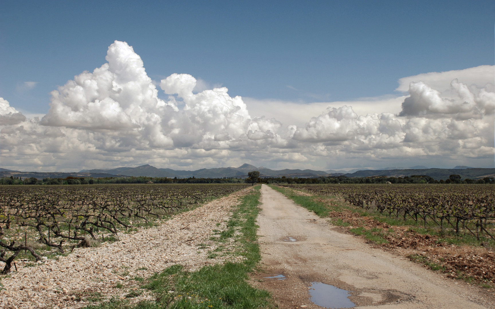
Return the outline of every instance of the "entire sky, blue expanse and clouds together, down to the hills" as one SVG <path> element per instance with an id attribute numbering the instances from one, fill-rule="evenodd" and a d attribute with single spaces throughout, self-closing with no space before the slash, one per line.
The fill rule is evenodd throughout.
<path id="1" fill-rule="evenodd" d="M 1 164 L 40 171 L 244 162 L 323 170 L 493 167 L 494 23 L 494 1 L 4 1 L 0 97 L 2 113 L 17 116 L 0 124 L 13 126 L 2 135 Z M 133 70 L 139 91 L 157 90 L 142 104 L 157 100 L 159 108 L 143 107 L 139 119 L 132 104 L 143 92 L 136 88 L 119 84 L 138 91 L 129 92 L 130 101 L 108 97 L 118 111 L 98 105 L 109 89 L 99 90 L 98 111 L 94 99 L 70 99 L 75 76 L 119 55 L 130 55 L 119 65 Z M 135 56 L 146 75 L 129 62 Z M 226 96 L 217 91 L 202 106 L 201 95 L 181 96 L 192 82 L 176 76 L 182 84 L 174 86 L 167 79 L 174 73 L 195 78 L 195 95 L 227 87 L 228 97 L 242 96 L 243 103 L 219 103 Z M 460 84 L 451 86 L 453 80 Z M 425 85 L 409 88 L 410 82 Z M 471 93 L 469 111 L 462 85 Z M 50 94 L 57 89 L 66 97 Z M 431 89 L 439 94 L 425 99 Z M 218 106 L 223 114 L 212 128 L 206 116 Z M 195 108 L 198 114 L 188 112 Z M 227 133 L 239 117 L 245 131 Z M 155 127 L 150 119 L 159 119 Z M 400 129 L 384 129 L 393 122 Z M 190 131 L 193 125 L 199 127 Z M 74 157 L 70 149 L 78 147 L 91 155 Z"/>

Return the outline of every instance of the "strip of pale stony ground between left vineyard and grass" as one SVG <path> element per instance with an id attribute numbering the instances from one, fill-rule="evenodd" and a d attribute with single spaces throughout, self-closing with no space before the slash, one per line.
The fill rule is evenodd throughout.
<path id="1" fill-rule="evenodd" d="M 111 298 L 151 299 L 138 289 L 140 280 L 174 264 L 189 270 L 204 265 L 240 260 L 229 255 L 234 244 L 223 243 L 222 252 L 210 239 L 214 230 L 226 227 L 238 198 L 251 189 L 184 212 L 157 227 L 135 234 L 119 234 L 114 243 L 97 248 L 76 248 L 68 256 L 38 262 L 17 262 L 17 271 L 1 279 L 0 308 L 82 308 Z M 217 225 L 219 223 L 219 225 Z M 208 256 L 209 255 L 209 256 Z M 216 256 L 216 257 L 214 257 Z"/>

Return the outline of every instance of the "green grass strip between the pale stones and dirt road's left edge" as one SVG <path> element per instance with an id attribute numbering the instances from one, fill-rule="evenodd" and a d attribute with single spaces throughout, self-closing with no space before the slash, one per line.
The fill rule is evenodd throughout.
<path id="1" fill-rule="evenodd" d="M 198 271 L 184 270 L 181 265 L 167 267 L 156 273 L 142 288 L 151 290 L 155 300 L 129 305 L 128 301 L 111 300 L 92 309 L 241 309 L 266 308 L 269 306 L 269 292 L 256 289 L 248 283 L 248 273 L 261 260 L 256 235 L 256 217 L 259 212 L 260 186 L 253 193 L 241 198 L 241 204 L 234 210 L 221 239 L 236 237 L 239 246 L 237 255 L 245 257 L 243 262 L 227 262 L 223 265 L 208 265 Z M 241 235 L 234 236 L 238 226 Z M 134 293 L 139 295 L 139 293 Z M 128 295 L 129 298 L 133 295 Z"/>

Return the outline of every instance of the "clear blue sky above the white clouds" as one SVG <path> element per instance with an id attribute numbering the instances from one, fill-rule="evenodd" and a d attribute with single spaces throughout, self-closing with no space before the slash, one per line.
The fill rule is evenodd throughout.
<path id="1" fill-rule="evenodd" d="M 153 80 L 188 73 L 233 95 L 303 102 L 394 93 L 397 80 L 494 64 L 493 1 L 6 1 L 0 93 L 49 91 L 125 41 Z M 20 91 L 24 82 L 37 82 Z"/>

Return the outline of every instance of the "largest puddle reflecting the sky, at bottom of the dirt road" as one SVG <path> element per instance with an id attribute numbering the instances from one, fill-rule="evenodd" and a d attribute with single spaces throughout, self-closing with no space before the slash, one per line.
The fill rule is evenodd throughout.
<path id="1" fill-rule="evenodd" d="M 349 291 L 333 285 L 311 282 L 309 294 L 311 295 L 311 302 L 324 308 L 352 308 L 356 306 L 347 298 L 350 296 Z"/>

